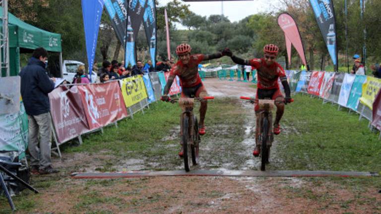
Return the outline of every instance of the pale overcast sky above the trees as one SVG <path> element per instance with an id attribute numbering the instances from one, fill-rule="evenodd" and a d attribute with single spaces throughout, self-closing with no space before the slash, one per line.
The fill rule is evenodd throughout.
<path id="1" fill-rule="evenodd" d="M 165 5 L 171 0 L 158 0 L 160 5 Z M 184 2 L 184 1 L 183 1 Z M 184 2 L 190 5 L 192 12 L 201 16 L 213 14 L 223 14 L 231 22 L 239 21 L 249 15 L 260 12 L 277 11 L 280 8 L 279 0 L 250 0 L 250 1 L 204 1 L 204 2 Z"/>

